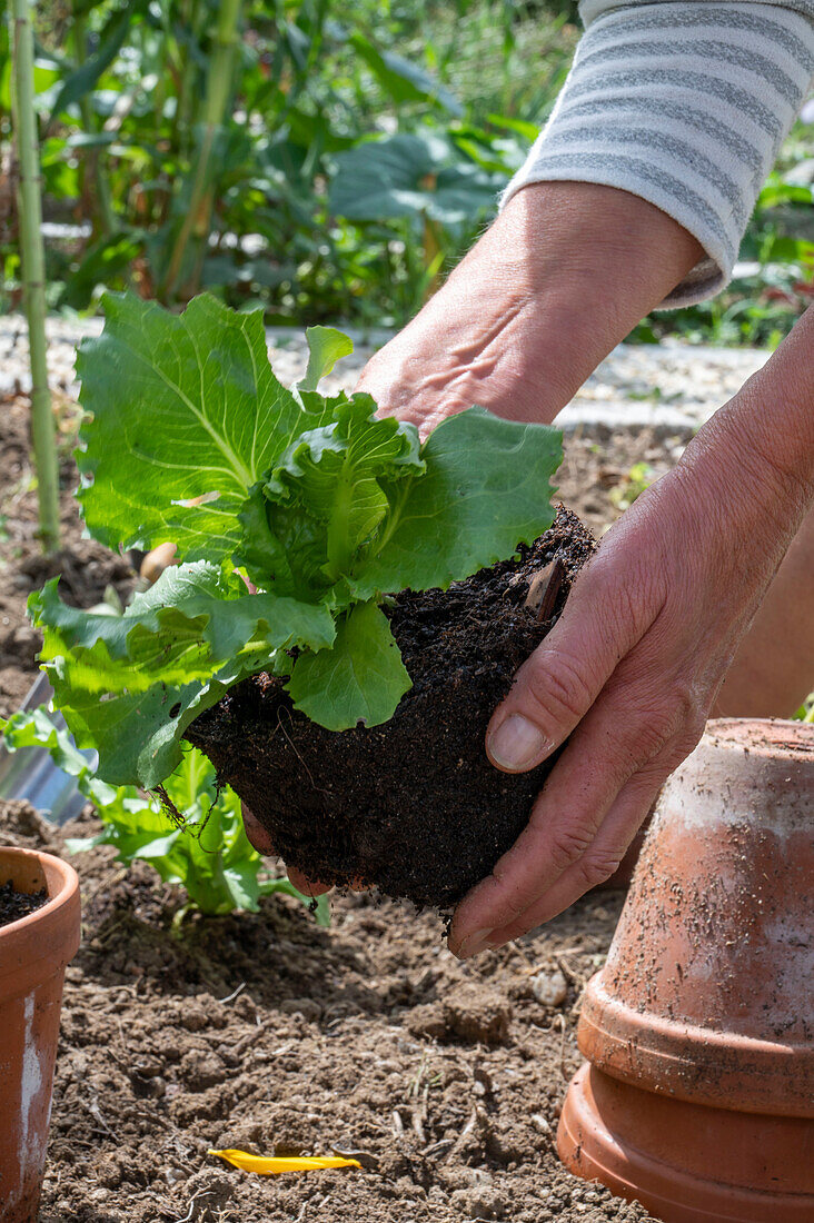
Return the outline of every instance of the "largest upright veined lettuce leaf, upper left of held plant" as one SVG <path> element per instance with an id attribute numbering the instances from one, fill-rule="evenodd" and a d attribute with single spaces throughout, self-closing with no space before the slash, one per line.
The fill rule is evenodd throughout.
<path id="1" fill-rule="evenodd" d="M 302 428 L 272 373 L 262 312 L 196 297 L 181 316 L 105 295 L 105 327 L 77 358 L 78 498 L 108 547 L 171 541 L 189 560 L 231 554 L 248 489 Z"/>

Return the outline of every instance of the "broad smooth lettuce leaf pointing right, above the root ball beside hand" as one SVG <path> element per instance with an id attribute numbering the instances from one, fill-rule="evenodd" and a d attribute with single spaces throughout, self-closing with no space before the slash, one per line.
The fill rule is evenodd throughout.
<path id="1" fill-rule="evenodd" d="M 472 407 L 444 421 L 421 457 L 426 476 L 410 484 L 386 544 L 349 580 L 355 598 L 446 588 L 510 556 L 553 522 L 550 477 L 562 461 L 558 429 Z"/>

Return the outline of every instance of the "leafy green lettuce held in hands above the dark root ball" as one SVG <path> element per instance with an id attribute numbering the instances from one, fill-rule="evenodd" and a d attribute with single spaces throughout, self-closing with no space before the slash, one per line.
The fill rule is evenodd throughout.
<path id="1" fill-rule="evenodd" d="M 110 784 L 159 785 L 184 731 L 240 680 L 285 678 L 332 730 L 387 722 L 410 678 L 383 610 L 446 588 L 551 525 L 561 435 L 470 408 L 424 443 L 370 395 L 316 390 L 350 350 L 308 331 L 286 390 L 260 311 L 208 296 L 182 316 L 105 297 L 82 344 L 78 499 L 110 548 L 177 545 L 181 564 L 122 615 L 32 596 L 42 662 L 80 747 Z"/>

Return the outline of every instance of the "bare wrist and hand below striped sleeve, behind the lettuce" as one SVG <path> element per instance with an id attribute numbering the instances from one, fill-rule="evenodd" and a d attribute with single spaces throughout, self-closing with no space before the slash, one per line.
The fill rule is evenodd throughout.
<path id="1" fill-rule="evenodd" d="M 677 221 L 624 191 L 524 187 L 357 389 L 425 437 L 472 404 L 551 421 L 700 256 Z"/>

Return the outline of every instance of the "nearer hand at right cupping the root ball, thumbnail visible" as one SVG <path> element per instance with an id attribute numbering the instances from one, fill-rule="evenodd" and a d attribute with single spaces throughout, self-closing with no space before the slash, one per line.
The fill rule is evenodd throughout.
<path id="1" fill-rule="evenodd" d="M 776 396 L 796 385 L 761 380 Z M 460 958 L 517 938 L 607 879 L 698 742 L 814 492 L 814 451 L 801 429 L 785 461 L 759 385 L 709 422 L 605 536 L 496 711 L 486 748 L 506 772 L 535 767 L 570 739 L 526 829 L 458 906 L 449 945 Z M 808 405 L 810 435 L 814 386 Z"/>

